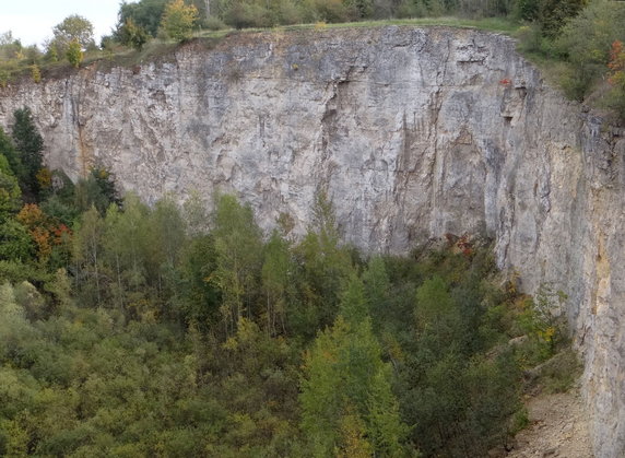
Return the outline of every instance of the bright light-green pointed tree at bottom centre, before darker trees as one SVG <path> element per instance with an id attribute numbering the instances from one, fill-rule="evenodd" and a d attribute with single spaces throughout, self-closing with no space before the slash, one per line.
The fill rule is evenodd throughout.
<path id="1" fill-rule="evenodd" d="M 354 426 L 359 428 L 357 448 L 373 447 L 384 456 L 401 450 L 406 427 L 391 392 L 390 367 L 381 361 L 365 309 L 363 285 L 352 278 L 341 315 L 305 355 L 302 427 L 314 456 L 329 456 L 337 448 L 346 454 L 354 447 Z M 370 442 L 362 442 L 365 435 Z"/>

